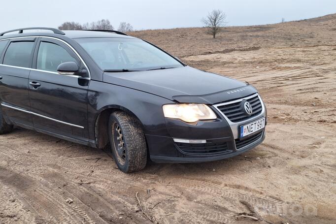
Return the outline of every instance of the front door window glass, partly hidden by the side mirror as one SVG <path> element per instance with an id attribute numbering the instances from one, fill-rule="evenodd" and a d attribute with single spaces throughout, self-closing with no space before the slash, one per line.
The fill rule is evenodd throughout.
<path id="1" fill-rule="evenodd" d="M 65 62 L 76 62 L 62 46 L 41 42 L 37 53 L 36 69 L 57 72 L 58 65 Z"/>

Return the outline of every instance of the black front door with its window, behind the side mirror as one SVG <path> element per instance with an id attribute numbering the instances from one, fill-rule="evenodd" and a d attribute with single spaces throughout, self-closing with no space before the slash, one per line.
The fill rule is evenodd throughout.
<path id="1" fill-rule="evenodd" d="M 29 77 L 34 128 L 87 141 L 87 92 L 90 79 L 60 75 L 59 64 L 84 65 L 67 44 L 52 38 L 39 38 Z"/>

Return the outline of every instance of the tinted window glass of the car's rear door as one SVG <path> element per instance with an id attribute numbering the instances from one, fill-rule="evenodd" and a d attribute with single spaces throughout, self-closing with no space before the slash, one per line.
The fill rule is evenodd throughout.
<path id="1" fill-rule="evenodd" d="M 30 68 L 33 47 L 34 42 L 32 41 L 11 42 L 4 55 L 3 64 Z"/>

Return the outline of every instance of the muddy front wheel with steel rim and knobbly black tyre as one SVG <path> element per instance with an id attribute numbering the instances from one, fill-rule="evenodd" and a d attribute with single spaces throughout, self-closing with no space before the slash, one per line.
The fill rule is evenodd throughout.
<path id="1" fill-rule="evenodd" d="M 145 135 L 136 119 L 117 111 L 109 118 L 109 137 L 113 158 L 124 173 L 143 169 L 147 162 Z"/>

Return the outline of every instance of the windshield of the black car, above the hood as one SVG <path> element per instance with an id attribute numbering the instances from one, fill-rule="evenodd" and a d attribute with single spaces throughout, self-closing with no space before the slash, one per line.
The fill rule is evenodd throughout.
<path id="1" fill-rule="evenodd" d="M 176 59 L 135 38 L 78 38 L 76 41 L 105 71 L 144 71 L 182 67 Z"/>

